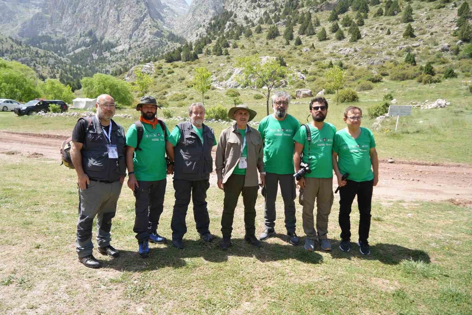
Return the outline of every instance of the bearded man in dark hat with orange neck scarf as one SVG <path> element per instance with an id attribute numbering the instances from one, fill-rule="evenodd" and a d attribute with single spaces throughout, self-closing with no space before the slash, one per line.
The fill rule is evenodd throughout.
<path id="1" fill-rule="evenodd" d="M 158 244 L 166 242 L 165 237 L 157 234 L 157 226 L 164 209 L 168 171 L 166 141 L 169 130 L 164 122 L 156 118 L 157 103 L 154 97 L 143 96 L 136 105 L 136 110 L 141 111 L 141 117 L 126 132 L 126 166 L 129 174 L 128 187 L 136 197 L 133 231 L 139 244 L 138 253 L 145 258 L 149 256 L 149 241 Z M 138 129 L 141 128 L 142 139 L 138 144 Z"/>

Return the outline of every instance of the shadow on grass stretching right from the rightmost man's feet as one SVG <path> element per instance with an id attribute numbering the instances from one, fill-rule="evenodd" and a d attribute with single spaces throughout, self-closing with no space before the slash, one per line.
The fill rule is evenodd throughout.
<path id="1" fill-rule="evenodd" d="M 357 257 L 366 260 L 378 260 L 380 263 L 388 265 L 399 264 L 404 259 L 431 263 L 430 255 L 425 251 L 410 249 L 395 244 L 378 243 L 371 245 L 370 255 L 361 254 L 359 252 L 359 246 L 354 242 L 351 242 L 351 250 L 347 253 L 339 249 L 339 241 L 332 241 L 331 245 L 333 250 L 330 254 L 333 258 L 351 260 L 352 257 Z"/>

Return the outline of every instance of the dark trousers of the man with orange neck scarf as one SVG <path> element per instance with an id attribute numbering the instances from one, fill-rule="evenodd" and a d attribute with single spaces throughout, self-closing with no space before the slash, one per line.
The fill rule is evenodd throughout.
<path id="1" fill-rule="evenodd" d="M 156 231 L 159 218 L 164 210 L 164 195 L 167 179 L 160 181 L 138 181 L 139 188 L 135 188 L 135 226 L 138 241 L 149 238 L 149 234 Z"/>

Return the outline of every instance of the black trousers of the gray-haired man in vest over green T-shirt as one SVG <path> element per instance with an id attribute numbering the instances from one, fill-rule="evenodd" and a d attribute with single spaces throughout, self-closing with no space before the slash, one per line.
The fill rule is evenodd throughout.
<path id="1" fill-rule="evenodd" d="M 198 233 L 209 233 L 210 216 L 208 215 L 206 191 L 210 188 L 210 180 L 187 181 L 184 179 L 174 179 L 175 204 L 172 213 L 172 238 L 182 238 L 187 233 L 185 216 L 187 215 L 190 196 L 194 203 L 194 219 Z"/>

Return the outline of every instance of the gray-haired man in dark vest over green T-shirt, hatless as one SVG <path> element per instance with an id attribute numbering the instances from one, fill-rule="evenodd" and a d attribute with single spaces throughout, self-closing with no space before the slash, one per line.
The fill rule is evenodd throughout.
<path id="1" fill-rule="evenodd" d="M 184 248 L 182 238 L 187 232 L 185 216 L 190 203 L 190 195 L 194 203 L 194 219 L 196 228 L 203 241 L 213 238 L 209 231 L 210 216 L 208 215 L 206 191 L 210 187 L 210 173 L 213 171 L 211 148 L 216 138 L 213 129 L 203 124 L 205 107 L 202 103 L 194 103 L 188 108 L 190 122 L 180 122 L 169 135 L 166 143 L 171 160 L 175 160 L 174 189 L 175 204 L 172 214 L 172 245 Z"/>

